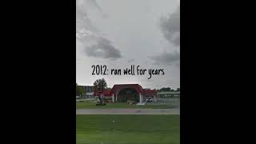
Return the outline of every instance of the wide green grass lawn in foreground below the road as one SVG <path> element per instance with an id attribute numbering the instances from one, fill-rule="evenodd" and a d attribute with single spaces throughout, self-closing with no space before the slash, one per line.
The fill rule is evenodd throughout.
<path id="1" fill-rule="evenodd" d="M 76 117 L 77 144 L 179 143 L 179 115 L 93 114 Z"/>

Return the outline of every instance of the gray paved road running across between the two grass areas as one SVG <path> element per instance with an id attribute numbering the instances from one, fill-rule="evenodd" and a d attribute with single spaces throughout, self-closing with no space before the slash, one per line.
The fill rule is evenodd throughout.
<path id="1" fill-rule="evenodd" d="M 179 114 L 179 109 L 78 109 L 76 114 Z"/>

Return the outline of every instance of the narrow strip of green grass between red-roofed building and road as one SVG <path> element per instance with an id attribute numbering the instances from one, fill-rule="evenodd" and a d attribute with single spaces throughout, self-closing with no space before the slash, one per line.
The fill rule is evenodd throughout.
<path id="1" fill-rule="evenodd" d="M 170 105 L 145 105 L 145 106 L 137 106 L 137 105 L 128 105 L 127 102 L 115 102 L 115 103 L 106 103 L 106 106 L 96 106 L 95 102 L 76 102 L 77 109 L 108 109 L 108 108 L 147 108 L 147 109 L 166 109 L 172 108 L 174 106 Z"/>

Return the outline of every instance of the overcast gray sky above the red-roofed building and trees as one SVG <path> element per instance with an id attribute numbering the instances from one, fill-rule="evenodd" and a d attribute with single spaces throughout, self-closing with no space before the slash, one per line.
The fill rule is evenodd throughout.
<path id="1" fill-rule="evenodd" d="M 143 88 L 180 86 L 179 0 L 77 0 L 76 81 Z M 140 65 L 164 75 L 92 75 L 92 65 L 123 69 Z"/>

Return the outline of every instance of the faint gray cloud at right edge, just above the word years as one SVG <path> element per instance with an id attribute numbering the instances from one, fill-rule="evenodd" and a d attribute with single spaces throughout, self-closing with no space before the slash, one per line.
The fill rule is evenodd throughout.
<path id="1" fill-rule="evenodd" d="M 151 56 L 149 58 L 152 59 L 155 64 L 177 64 L 180 59 L 180 54 L 178 52 L 162 53 L 157 56 Z"/>

